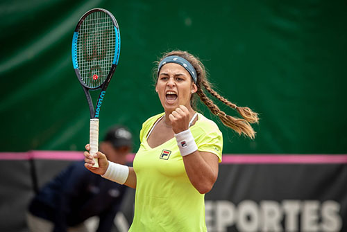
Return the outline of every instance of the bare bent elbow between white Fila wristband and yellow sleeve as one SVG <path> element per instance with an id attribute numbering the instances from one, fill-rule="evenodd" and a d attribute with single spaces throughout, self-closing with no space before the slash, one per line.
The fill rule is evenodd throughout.
<path id="1" fill-rule="evenodd" d="M 183 157 L 190 183 L 199 193 L 210 192 L 218 177 L 218 157 L 210 152 L 199 152 Z"/>

